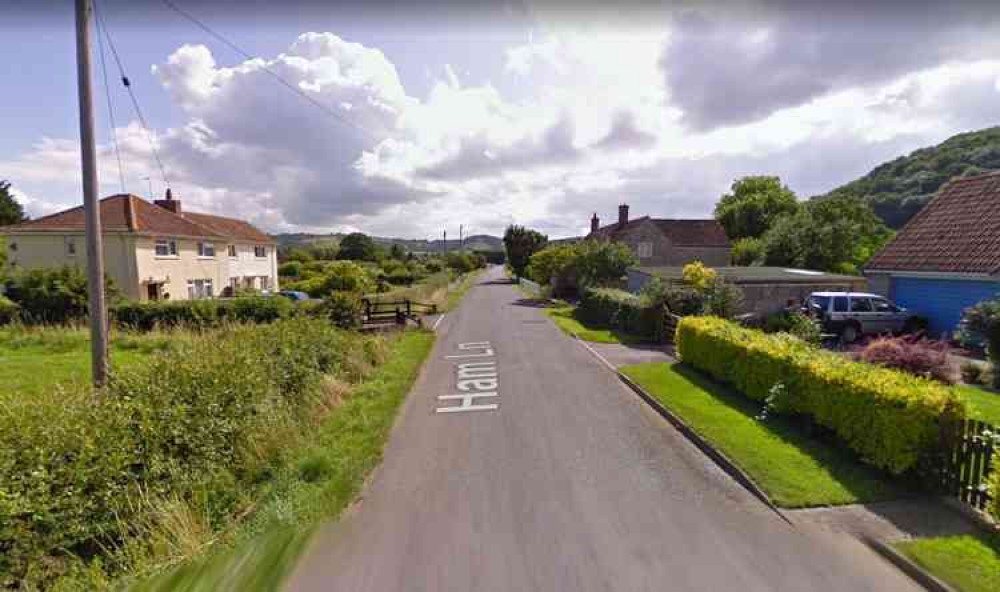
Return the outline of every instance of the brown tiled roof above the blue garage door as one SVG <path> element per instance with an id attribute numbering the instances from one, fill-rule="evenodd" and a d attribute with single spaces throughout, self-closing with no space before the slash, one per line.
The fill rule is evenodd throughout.
<path id="1" fill-rule="evenodd" d="M 942 187 L 865 269 L 1000 272 L 1000 172 Z"/>

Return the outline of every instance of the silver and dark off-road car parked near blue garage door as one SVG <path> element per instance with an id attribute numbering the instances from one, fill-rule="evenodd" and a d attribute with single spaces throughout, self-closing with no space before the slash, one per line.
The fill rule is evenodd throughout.
<path id="1" fill-rule="evenodd" d="M 920 327 L 919 317 L 878 294 L 813 292 L 803 310 L 818 319 L 826 333 L 852 343 L 862 335 L 909 333 Z"/>

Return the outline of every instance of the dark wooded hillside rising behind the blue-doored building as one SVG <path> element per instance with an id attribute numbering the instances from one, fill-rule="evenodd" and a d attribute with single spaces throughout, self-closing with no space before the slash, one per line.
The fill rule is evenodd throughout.
<path id="1" fill-rule="evenodd" d="M 881 164 L 827 195 L 850 192 L 867 199 L 892 228 L 901 228 L 952 177 L 1000 169 L 1000 127 L 952 136 Z M 822 197 L 822 196 L 821 196 Z"/>

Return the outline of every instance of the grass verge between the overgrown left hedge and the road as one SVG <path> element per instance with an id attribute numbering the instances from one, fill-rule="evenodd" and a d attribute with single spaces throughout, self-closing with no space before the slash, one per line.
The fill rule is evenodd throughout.
<path id="1" fill-rule="evenodd" d="M 403 333 L 387 361 L 355 387 L 312 444 L 276 476 L 258 509 L 221 547 L 133 588 L 143 591 L 279 590 L 315 527 L 337 517 L 382 460 L 396 413 L 434 344 L 429 331 Z"/>

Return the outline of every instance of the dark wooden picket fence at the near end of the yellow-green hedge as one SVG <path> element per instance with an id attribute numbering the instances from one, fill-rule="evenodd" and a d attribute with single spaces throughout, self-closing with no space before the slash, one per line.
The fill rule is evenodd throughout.
<path id="1" fill-rule="evenodd" d="M 998 433 L 996 426 L 975 419 L 963 420 L 945 430 L 945 453 L 934 472 L 947 495 L 978 510 L 986 508 L 990 501 L 986 483 L 993 468 Z"/>

